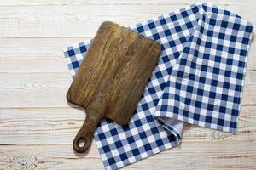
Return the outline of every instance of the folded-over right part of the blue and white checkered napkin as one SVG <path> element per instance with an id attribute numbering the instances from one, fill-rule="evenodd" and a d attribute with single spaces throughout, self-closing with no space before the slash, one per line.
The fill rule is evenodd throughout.
<path id="1" fill-rule="evenodd" d="M 236 133 L 253 26 L 203 5 L 190 34 L 154 116 Z"/>

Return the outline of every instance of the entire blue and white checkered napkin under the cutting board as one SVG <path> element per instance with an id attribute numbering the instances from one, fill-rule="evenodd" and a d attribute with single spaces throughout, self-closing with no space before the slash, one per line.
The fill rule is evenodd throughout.
<path id="1" fill-rule="evenodd" d="M 103 120 L 95 133 L 106 169 L 179 144 L 183 122 L 236 132 L 253 26 L 207 3 L 131 26 L 160 42 L 162 54 L 128 126 Z M 90 41 L 64 49 L 72 77 Z"/>

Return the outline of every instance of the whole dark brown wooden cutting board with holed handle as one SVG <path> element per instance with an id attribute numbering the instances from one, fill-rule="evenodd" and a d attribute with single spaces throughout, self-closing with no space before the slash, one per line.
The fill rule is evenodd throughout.
<path id="1" fill-rule="evenodd" d="M 113 22 L 102 23 L 67 92 L 67 100 L 86 111 L 74 150 L 89 148 L 102 118 L 130 122 L 160 52 L 158 42 Z"/>

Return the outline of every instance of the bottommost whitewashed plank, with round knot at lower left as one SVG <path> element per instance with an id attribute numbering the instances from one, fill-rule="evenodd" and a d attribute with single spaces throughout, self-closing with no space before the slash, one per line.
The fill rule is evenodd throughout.
<path id="1" fill-rule="evenodd" d="M 87 155 L 73 153 L 71 144 L 2 145 L 0 166 L 38 169 L 103 169 L 95 142 Z M 254 169 L 255 141 L 183 142 L 172 150 L 151 156 L 126 169 Z M 124 169 L 125 169 L 124 168 Z"/>

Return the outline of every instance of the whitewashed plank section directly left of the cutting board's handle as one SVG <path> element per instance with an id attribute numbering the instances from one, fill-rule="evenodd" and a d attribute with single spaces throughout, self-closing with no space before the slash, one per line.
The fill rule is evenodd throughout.
<path id="1" fill-rule="evenodd" d="M 0 109 L 0 115 L 0 144 L 72 144 L 85 117 L 74 108 Z"/>

